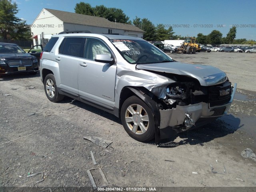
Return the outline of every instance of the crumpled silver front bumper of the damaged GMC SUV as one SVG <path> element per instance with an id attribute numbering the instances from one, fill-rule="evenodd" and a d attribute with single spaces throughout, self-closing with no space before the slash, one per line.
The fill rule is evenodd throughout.
<path id="1" fill-rule="evenodd" d="M 231 99 L 227 104 L 209 107 L 201 102 L 188 106 L 177 106 L 174 109 L 160 110 L 160 138 L 170 138 L 179 132 L 187 131 L 195 126 L 202 126 L 216 118 L 227 114 L 236 92 L 235 83 L 232 86 Z"/>

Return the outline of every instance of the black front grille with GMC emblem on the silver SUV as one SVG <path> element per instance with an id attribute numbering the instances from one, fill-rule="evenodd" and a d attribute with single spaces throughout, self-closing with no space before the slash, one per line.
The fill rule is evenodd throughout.
<path id="1" fill-rule="evenodd" d="M 229 92 L 226 90 L 229 89 Z M 227 104 L 231 99 L 232 87 L 229 81 L 208 88 L 210 107 Z M 221 95 L 224 92 L 224 95 Z"/>

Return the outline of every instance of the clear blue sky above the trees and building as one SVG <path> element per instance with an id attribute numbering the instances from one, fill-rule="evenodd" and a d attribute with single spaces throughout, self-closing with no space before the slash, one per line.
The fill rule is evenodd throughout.
<path id="1" fill-rule="evenodd" d="M 82 0 L 12 0 L 18 18 L 32 24 L 43 8 L 74 12 Z M 92 7 L 104 5 L 123 10 L 132 21 L 147 18 L 155 26 L 172 26 L 174 35 L 208 35 L 219 30 L 225 37 L 236 26 L 236 39 L 256 40 L 256 0 L 86 0 Z"/>

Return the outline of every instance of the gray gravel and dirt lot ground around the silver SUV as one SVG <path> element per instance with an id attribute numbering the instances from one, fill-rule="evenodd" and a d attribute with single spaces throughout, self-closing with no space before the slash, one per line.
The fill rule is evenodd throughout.
<path id="1" fill-rule="evenodd" d="M 178 61 L 216 66 L 227 73 L 232 83 L 238 83 L 228 115 L 179 134 L 172 147 L 156 146 L 154 141 L 137 142 L 114 115 L 82 102 L 72 102 L 71 98 L 50 102 L 39 73 L 2 76 L 0 186 L 91 187 L 86 170 L 101 168 L 112 187 L 255 188 L 256 162 L 242 157 L 241 152 L 250 148 L 256 153 L 256 54 L 170 56 Z M 84 139 L 88 136 L 112 144 L 107 148 L 98 146 Z M 27 177 L 38 172 L 44 173 L 42 182 L 37 182 L 42 179 L 41 174 Z M 92 174 L 97 186 L 105 184 L 97 170 Z"/>

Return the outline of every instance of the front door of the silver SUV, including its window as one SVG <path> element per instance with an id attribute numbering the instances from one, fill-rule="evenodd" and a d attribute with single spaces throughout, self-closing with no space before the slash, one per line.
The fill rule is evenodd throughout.
<path id="1" fill-rule="evenodd" d="M 100 39 L 87 38 L 84 59 L 78 61 L 78 88 L 81 101 L 114 109 L 116 64 L 96 62 L 97 54 L 113 54 Z"/>

